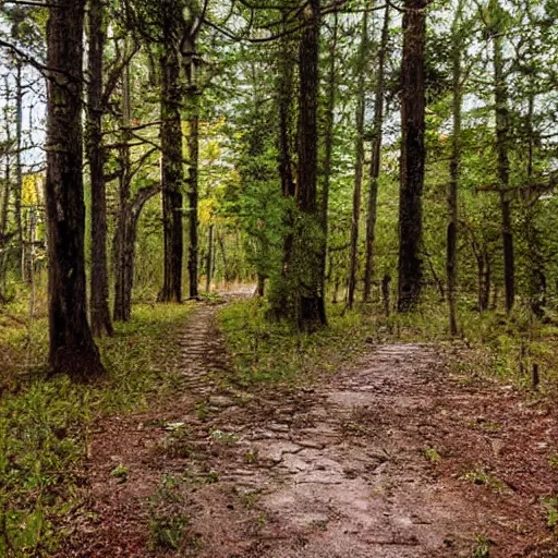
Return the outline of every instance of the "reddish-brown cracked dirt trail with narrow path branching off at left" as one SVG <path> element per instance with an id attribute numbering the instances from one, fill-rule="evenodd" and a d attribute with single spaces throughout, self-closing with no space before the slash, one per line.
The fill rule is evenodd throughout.
<path id="1" fill-rule="evenodd" d="M 558 556 L 547 410 L 421 344 L 372 348 L 313 388 L 231 388 L 215 315 L 185 326 L 168 404 L 92 434 L 93 513 L 61 557 Z"/>

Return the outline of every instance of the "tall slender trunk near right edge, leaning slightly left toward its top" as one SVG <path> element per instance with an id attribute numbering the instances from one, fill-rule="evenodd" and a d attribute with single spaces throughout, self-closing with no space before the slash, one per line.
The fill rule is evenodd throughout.
<path id="1" fill-rule="evenodd" d="M 494 48 L 494 99 L 496 104 L 496 150 L 498 153 L 498 182 L 504 243 L 504 282 L 506 287 L 506 312 L 511 312 L 515 299 L 515 264 L 513 256 L 513 232 L 511 227 L 511 203 L 509 198 L 510 161 L 508 130 L 508 87 L 504 75 L 501 38 L 501 13 L 498 0 L 494 2 L 496 24 L 493 29 Z"/>

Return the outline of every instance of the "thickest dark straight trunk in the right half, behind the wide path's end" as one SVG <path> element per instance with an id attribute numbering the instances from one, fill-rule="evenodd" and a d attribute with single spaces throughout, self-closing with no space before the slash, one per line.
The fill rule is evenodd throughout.
<path id="1" fill-rule="evenodd" d="M 423 184 L 425 165 L 424 44 L 427 0 L 405 0 L 401 94 L 401 185 L 399 196 L 398 310 L 418 301 L 423 281 Z"/>

